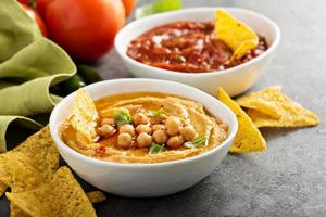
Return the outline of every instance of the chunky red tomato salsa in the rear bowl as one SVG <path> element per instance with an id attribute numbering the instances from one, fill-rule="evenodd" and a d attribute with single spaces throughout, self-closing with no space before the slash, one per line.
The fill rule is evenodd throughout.
<path id="1" fill-rule="evenodd" d="M 260 36 L 255 49 L 233 60 L 233 50 L 216 38 L 213 22 L 181 21 L 146 31 L 130 42 L 127 55 L 168 71 L 208 73 L 248 62 L 267 49 L 266 40 Z"/>

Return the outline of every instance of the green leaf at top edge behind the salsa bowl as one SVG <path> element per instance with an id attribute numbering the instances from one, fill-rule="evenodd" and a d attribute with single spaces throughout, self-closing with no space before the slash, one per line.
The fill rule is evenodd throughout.
<path id="1" fill-rule="evenodd" d="M 183 8 L 181 0 L 159 0 L 136 9 L 136 18 Z"/>

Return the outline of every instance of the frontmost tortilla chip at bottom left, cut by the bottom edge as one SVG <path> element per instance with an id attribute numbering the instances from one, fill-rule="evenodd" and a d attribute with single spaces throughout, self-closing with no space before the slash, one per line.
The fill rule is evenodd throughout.
<path id="1" fill-rule="evenodd" d="M 51 182 L 21 193 L 5 193 L 12 212 L 33 217 L 91 217 L 96 212 L 67 167 L 61 167 Z"/>

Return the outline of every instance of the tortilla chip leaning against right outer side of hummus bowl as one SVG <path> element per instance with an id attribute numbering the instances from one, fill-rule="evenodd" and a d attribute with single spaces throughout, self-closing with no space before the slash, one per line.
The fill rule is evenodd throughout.
<path id="1" fill-rule="evenodd" d="M 226 104 L 237 116 L 239 129 L 229 150 L 231 153 L 258 152 L 266 149 L 266 141 L 250 117 L 230 99 L 223 88 L 217 90 L 217 99 Z"/>

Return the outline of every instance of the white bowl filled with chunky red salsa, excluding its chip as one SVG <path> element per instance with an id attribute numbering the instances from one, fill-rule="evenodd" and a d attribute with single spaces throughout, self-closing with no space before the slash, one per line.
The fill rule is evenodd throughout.
<path id="1" fill-rule="evenodd" d="M 260 49 L 258 49 L 256 51 L 252 51 L 251 53 L 249 53 L 249 55 L 244 56 L 243 60 L 235 64 L 223 60 L 223 56 L 227 58 L 229 55 L 227 49 L 224 49 L 224 53 L 222 55 L 217 53 L 217 59 L 221 59 L 218 61 L 223 63 L 218 64 L 218 61 L 214 62 L 216 56 L 214 56 L 214 60 L 212 60 L 212 56 L 210 56 L 210 53 L 212 53 L 211 51 L 208 51 L 203 54 L 201 53 L 202 55 L 200 54 L 198 58 L 198 60 L 200 60 L 201 62 L 198 62 L 193 61 L 193 56 L 196 56 L 193 55 L 196 53 L 193 51 L 189 51 L 190 55 L 185 55 L 185 53 L 188 52 L 185 51 L 181 52 L 183 55 L 177 56 L 177 54 L 179 54 L 181 50 L 179 48 L 183 48 L 183 46 L 179 44 L 180 42 L 175 46 L 173 44 L 173 40 L 167 40 L 168 43 L 162 46 L 162 40 L 164 42 L 164 40 L 166 39 L 164 37 L 168 35 L 166 34 L 166 29 L 168 31 L 168 28 L 164 29 L 164 25 L 173 25 L 176 24 L 176 22 L 187 25 L 185 24 L 185 22 L 190 22 L 191 25 L 203 24 L 209 26 L 208 24 L 210 22 L 214 22 L 215 11 L 217 9 L 229 12 L 233 16 L 249 25 L 259 36 L 261 36 L 262 40 L 260 41 L 261 43 L 259 46 L 262 46 L 264 52 L 261 52 Z M 161 28 L 161 35 L 153 35 L 149 33 L 158 28 Z M 188 26 L 186 28 L 188 28 Z M 211 27 L 203 27 L 203 29 L 210 30 Z M 165 33 L 163 33 L 164 30 Z M 213 29 L 211 30 L 213 31 Z M 160 29 L 158 30 L 158 33 Z M 173 36 L 179 36 L 180 33 L 183 31 L 175 31 L 173 33 Z M 193 33 L 190 34 L 191 37 L 196 37 L 195 35 L 196 34 Z M 143 49 L 145 43 L 136 44 L 137 41 L 135 40 L 139 39 L 139 37 L 145 36 L 149 38 L 151 37 L 154 43 L 160 43 L 160 48 L 152 49 L 153 47 L 150 47 L 150 49 L 146 51 L 146 49 Z M 191 39 L 193 40 L 193 38 Z M 279 40 L 280 30 L 278 26 L 272 20 L 259 13 L 237 8 L 191 8 L 155 14 L 131 22 L 116 35 L 115 50 L 121 56 L 123 63 L 135 77 L 179 81 L 199 88 L 212 95 L 216 93 L 216 89 L 218 87 L 223 87 L 228 94 L 237 95 L 251 88 L 260 78 L 262 73 L 268 66 L 272 58 L 274 56 Z M 138 42 L 139 41 L 141 40 L 138 40 Z M 198 43 L 200 39 L 195 40 L 195 43 Z M 129 48 L 130 46 L 133 46 L 133 43 L 135 49 L 130 50 Z M 137 50 L 137 46 L 141 46 L 142 48 Z M 210 44 L 208 44 L 204 49 L 209 48 Z M 218 49 L 220 48 L 223 48 L 223 46 L 220 46 Z M 142 55 L 142 59 L 139 54 L 139 51 L 140 54 L 141 51 L 143 52 L 142 54 L 146 54 Z M 172 52 L 173 54 L 177 54 L 173 55 L 173 58 L 171 59 L 166 59 L 167 55 L 160 59 L 160 56 L 158 58 L 158 55 L 154 55 L 158 52 Z M 168 54 L 168 56 L 171 55 Z M 150 62 L 152 61 L 151 58 L 153 58 L 155 61 Z M 206 60 L 202 61 L 202 59 Z M 172 63 L 178 61 L 180 62 L 180 64 L 172 65 Z M 189 64 L 184 67 L 183 64 L 185 65 L 187 63 Z M 198 64 L 200 64 L 201 66 L 192 67 L 190 63 L 195 63 L 192 64 L 195 66 L 198 66 Z"/>

